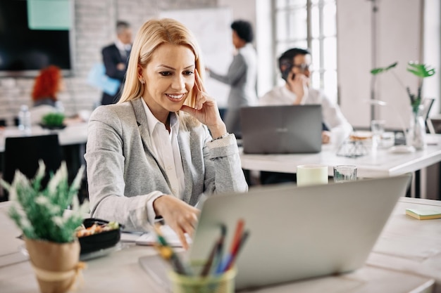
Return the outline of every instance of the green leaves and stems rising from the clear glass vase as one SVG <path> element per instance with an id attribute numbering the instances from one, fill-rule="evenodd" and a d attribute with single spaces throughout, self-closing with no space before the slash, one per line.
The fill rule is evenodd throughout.
<path id="1" fill-rule="evenodd" d="M 383 72 L 387 72 L 389 70 L 392 70 L 392 68 L 397 67 L 397 65 L 398 65 L 398 63 L 395 62 L 395 63 L 392 63 L 391 65 L 386 66 L 386 67 L 374 68 L 373 70 L 371 70 L 371 74 L 376 75 L 376 74 L 380 74 Z M 395 72 L 392 71 L 392 73 L 394 74 L 394 77 L 397 79 L 399 84 L 401 84 L 403 86 L 403 88 L 406 89 L 407 95 L 410 98 L 412 111 L 417 112 L 418 107 L 421 104 L 421 89 L 423 87 L 423 79 L 426 77 L 433 76 L 433 74 L 435 74 L 435 69 L 433 67 L 430 67 L 430 65 L 426 65 L 426 64 L 422 64 L 422 63 L 414 63 L 412 61 L 409 61 L 409 63 L 407 63 L 406 70 L 408 72 L 411 72 L 412 74 L 414 74 L 419 79 L 418 89 L 417 89 L 416 93 L 412 93 L 409 86 L 404 86 L 404 84 L 398 78 L 398 76 L 397 76 L 397 74 L 395 74 Z"/>

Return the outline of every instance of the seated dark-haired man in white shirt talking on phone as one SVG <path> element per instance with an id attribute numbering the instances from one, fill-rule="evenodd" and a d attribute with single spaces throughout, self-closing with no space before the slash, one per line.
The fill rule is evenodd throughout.
<path id="1" fill-rule="evenodd" d="M 311 53 L 303 48 L 291 48 L 282 53 L 279 69 L 285 84 L 276 86 L 259 99 L 259 105 L 311 105 L 322 106 L 322 143 L 329 143 L 333 132 L 349 136 L 352 126 L 343 116 L 340 108 L 321 91 L 312 89 L 309 84 L 311 74 Z"/>

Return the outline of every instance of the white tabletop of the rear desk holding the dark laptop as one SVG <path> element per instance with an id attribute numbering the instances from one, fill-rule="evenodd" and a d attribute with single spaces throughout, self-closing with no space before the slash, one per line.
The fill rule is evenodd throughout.
<path id="1" fill-rule="evenodd" d="M 361 178 L 398 176 L 414 172 L 441 161 L 441 134 L 428 134 L 425 150 L 411 153 L 393 153 L 388 149 L 370 150 L 364 157 L 349 158 L 337 156 L 335 145 L 323 145 L 322 151 L 314 154 L 296 155 L 254 155 L 244 154 L 240 149 L 243 169 L 296 173 L 302 164 L 325 164 L 328 174 L 333 176 L 337 165 L 356 165 L 357 175 Z"/>

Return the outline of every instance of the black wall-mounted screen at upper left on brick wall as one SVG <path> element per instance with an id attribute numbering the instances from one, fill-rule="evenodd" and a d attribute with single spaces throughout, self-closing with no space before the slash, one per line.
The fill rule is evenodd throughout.
<path id="1" fill-rule="evenodd" d="M 0 1 L 0 77 L 34 77 L 48 65 L 61 67 L 64 75 L 71 74 L 71 30 L 31 30 L 29 1 L 32 0 Z M 67 4 L 63 9 L 70 7 L 69 0 L 61 1 Z M 56 1 L 45 2 L 50 5 Z M 47 13 L 49 17 L 57 12 L 48 9 Z"/>

